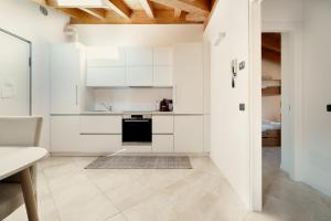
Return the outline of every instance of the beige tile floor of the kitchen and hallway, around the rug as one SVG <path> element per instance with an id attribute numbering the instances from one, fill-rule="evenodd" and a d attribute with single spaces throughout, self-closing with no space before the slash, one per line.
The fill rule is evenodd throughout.
<path id="1" fill-rule="evenodd" d="M 279 149 L 264 150 L 263 213 L 247 213 L 209 158 L 192 170 L 85 170 L 92 157 L 52 157 L 39 165 L 42 221 L 331 221 L 331 200 L 291 181 Z M 26 221 L 21 207 L 6 221 Z"/>

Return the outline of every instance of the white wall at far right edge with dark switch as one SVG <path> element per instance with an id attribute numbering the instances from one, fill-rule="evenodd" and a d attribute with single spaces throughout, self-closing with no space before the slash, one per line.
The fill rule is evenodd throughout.
<path id="1" fill-rule="evenodd" d="M 331 196 L 331 1 L 305 1 L 303 180 Z"/>

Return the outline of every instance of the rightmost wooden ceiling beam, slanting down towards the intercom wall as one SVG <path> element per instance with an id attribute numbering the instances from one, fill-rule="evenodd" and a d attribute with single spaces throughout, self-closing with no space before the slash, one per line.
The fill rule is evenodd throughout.
<path id="1" fill-rule="evenodd" d="M 151 0 L 153 2 L 190 13 L 210 13 L 207 0 Z"/>

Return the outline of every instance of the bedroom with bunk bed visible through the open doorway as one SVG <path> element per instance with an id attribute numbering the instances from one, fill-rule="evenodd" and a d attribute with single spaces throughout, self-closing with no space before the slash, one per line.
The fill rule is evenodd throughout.
<path id="1" fill-rule="evenodd" d="M 281 161 L 281 33 L 261 34 L 263 183 Z"/>

